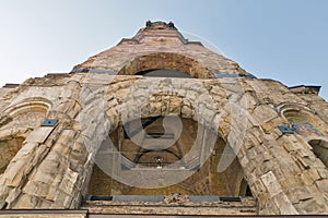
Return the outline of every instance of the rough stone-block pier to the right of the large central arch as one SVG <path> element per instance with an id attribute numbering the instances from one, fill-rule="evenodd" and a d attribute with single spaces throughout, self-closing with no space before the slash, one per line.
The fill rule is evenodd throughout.
<path id="1" fill-rule="evenodd" d="M 253 110 L 254 126 L 251 134 L 246 136 L 246 153 L 244 156 L 239 153 L 239 160 L 245 173 L 255 177 L 248 182 L 262 213 L 326 214 L 327 168 L 302 136 L 281 134 L 277 130 L 278 124 L 288 124 L 279 114 L 280 106 L 306 106 L 308 102 L 278 82 L 254 80 L 247 84 L 258 106 Z M 321 106 L 327 108 L 327 102 Z"/>

